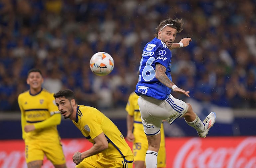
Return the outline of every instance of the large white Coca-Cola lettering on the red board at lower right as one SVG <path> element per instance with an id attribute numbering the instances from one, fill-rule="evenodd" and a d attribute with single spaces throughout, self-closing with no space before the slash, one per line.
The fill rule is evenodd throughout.
<path id="1" fill-rule="evenodd" d="M 256 138 L 246 138 L 234 147 L 218 148 L 210 143 L 203 148 L 202 140 L 205 139 L 188 140 L 177 152 L 173 168 L 256 168 Z"/>

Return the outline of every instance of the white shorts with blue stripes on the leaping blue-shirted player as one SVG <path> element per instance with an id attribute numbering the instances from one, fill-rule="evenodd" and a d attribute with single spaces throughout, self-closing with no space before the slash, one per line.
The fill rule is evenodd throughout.
<path id="1" fill-rule="evenodd" d="M 159 134 L 163 120 L 172 124 L 188 110 L 188 105 L 184 101 L 174 98 L 171 94 L 165 100 L 141 95 L 138 104 L 146 135 Z"/>

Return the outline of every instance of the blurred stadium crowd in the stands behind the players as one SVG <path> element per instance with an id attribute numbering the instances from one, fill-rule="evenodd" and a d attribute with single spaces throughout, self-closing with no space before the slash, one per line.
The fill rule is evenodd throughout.
<path id="1" fill-rule="evenodd" d="M 192 38 L 172 50 L 174 83 L 201 102 L 255 108 L 255 11 L 256 0 L 0 0 L 0 111 L 19 111 L 31 68 L 49 91 L 74 90 L 78 104 L 125 108 L 141 51 L 167 17 L 185 21 L 175 42 Z M 90 71 L 98 51 L 115 61 L 108 76 Z"/>

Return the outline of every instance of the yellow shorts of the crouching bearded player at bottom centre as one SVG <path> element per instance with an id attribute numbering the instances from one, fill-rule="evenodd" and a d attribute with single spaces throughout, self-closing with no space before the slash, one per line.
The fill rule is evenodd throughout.
<path id="1" fill-rule="evenodd" d="M 106 160 L 99 156 L 98 154 L 87 157 L 83 159 L 82 162 L 80 162 L 75 167 L 77 168 L 132 168 L 133 163 L 128 163 L 125 161 L 115 161 L 115 160 Z"/>

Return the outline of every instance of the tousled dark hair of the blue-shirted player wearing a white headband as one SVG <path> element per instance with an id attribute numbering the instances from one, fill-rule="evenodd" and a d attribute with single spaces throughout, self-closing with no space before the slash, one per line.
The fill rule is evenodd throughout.
<path id="1" fill-rule="evenodd" d="M 178 19 L 178 18 L 176 18 L 176 19 L 168 18 L 168 19 L 162 20 L 160 22 L 160 24 L 158 25 L 158 27 L 155 29 L 156 30 L 155 37 L 158 37 L 158 31 L 167 24 L 173 24 L 173 25 L 168 25 L 168 26 L 170 26 L 172 28 L 176 28 L 177 33 L 180 33 L 183 30 L 182 26 L 183 26 L 184 22 L 182 21 L 182 19 Z"/>

